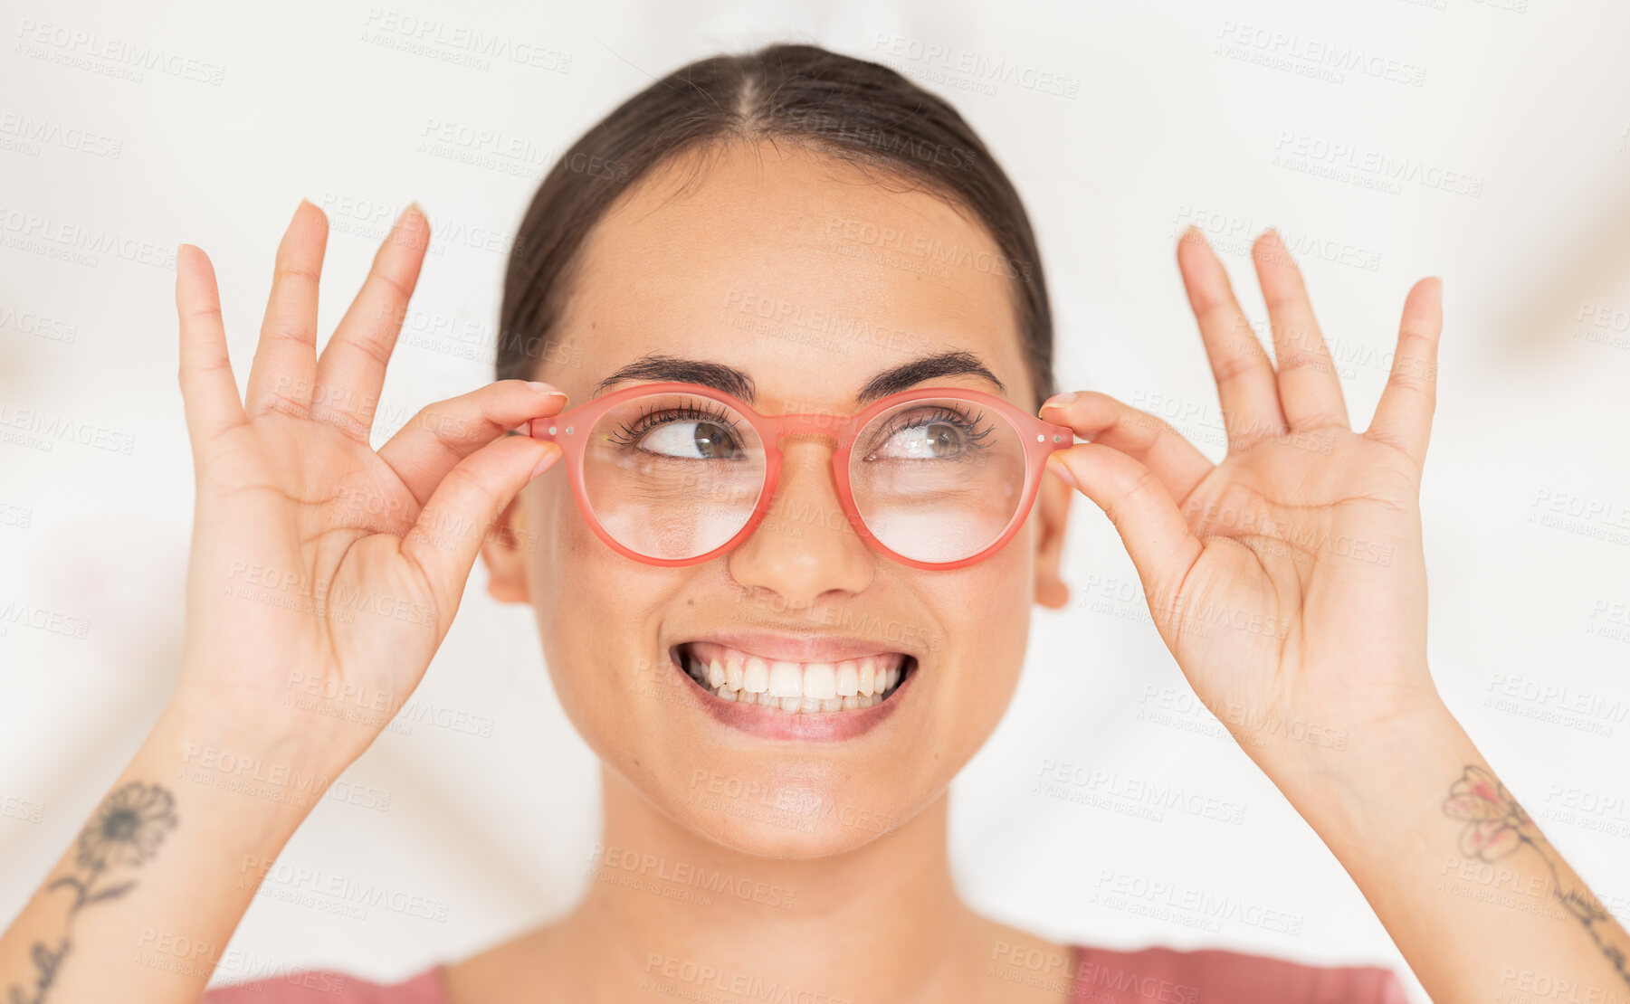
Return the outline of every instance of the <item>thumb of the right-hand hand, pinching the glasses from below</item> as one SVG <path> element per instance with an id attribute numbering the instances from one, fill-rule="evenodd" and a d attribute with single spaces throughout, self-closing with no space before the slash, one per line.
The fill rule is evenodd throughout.
<path id="1" fill-rule="evenodd" d="M 1058 450 L 1046 463 L 1055 474 L 1074 482 L 1115 525 L 1151 610 L 1175 610 L 1180 597 L 1174 593 L 1205 544 L 1188 530 L 1161 479 L 1131 456 L 1102 443 Z"/>

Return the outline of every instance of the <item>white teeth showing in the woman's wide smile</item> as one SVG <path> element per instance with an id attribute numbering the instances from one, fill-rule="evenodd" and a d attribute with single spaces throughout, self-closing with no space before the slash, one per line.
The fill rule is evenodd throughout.
<path id="1" fill-rule="evenodd" d="M 716 696 L 795 712 L 870 707 L 900 683 L 903 665 L 900 652 L 786 662 L 712 642 L 691 642 L 685 650 L 685 672 Z"/>

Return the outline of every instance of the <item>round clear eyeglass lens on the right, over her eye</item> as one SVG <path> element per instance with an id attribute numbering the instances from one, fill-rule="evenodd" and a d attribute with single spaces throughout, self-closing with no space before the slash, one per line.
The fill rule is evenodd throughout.
<path id="1" fill-rule="evenodd" d="M 1019 512 L 1024 478 L 1012 422 L 957 398 L 885 409 L 849 453 L 849 489 L 867 530 L 913 561 L 960 561 L 996 543 Z"/>

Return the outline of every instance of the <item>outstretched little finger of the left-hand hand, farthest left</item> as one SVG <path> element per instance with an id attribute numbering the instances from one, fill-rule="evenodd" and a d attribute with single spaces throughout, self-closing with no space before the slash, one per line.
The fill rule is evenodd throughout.
<path id="1" fill-rule="evenodd" d="M 246 419 L 227 354 L 215 266 L 192 244 L 176 249 L 176 313 L 181 318 L 181 401 L 187 437 L 197 451 Z"/>

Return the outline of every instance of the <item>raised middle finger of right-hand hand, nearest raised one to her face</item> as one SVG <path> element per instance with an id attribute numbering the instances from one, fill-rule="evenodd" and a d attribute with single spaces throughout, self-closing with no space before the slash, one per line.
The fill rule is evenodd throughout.
<path id="1" fill-rule="evenodd" d="M 1239 308 L 1222 262 L 1195 227 L 1183 231 L 1177 243 L 1177 267 L 1218 381 L 1229 447 L 1283 432 L 1284 412 L 1280 411 L 1273 363 Z"/>

